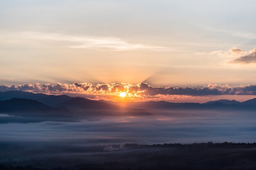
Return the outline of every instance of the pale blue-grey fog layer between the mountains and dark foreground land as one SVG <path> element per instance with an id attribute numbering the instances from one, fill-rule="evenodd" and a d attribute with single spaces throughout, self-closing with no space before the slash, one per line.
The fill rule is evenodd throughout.
<path id="1" fill-rule="evenodd" d="M 152 114 L 80 116 L 79 120 L 70 122 L 1 114 L 0 142 L 70 142 L 72 145 L 95 146 L 125 143 L 254 142 L 256 139 L 256 114 L 253 112 L 149 112 Z M 10 120 L 19 123 L 11 123 Z"/>

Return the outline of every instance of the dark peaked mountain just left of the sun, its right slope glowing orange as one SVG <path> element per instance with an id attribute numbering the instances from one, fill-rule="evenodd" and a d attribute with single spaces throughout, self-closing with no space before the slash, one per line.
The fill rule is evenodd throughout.
<path id="1" fill-rule="evenodd" d="M 97 100 L 75 97 L 68 101 L 56 105 L 56 107 L 66 107 L 68 109 L 118 109 L 117 105 L 112 105 Z"/>

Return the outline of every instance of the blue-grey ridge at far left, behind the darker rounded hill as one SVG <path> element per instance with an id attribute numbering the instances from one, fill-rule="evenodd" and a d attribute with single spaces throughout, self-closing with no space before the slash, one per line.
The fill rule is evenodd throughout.
<path id="1" fill-rule="evenodd" d="M 10 100 L 12 98 L 25 98 L 37 100 L 49 106 L 55 106 L 59 103 L 72 99 L 72 97 L 67 95 L 47 95 L 42 93 L 30 93 L 23 91 L 0 92 L 0 100 Z"/>

